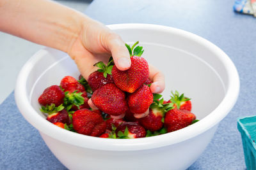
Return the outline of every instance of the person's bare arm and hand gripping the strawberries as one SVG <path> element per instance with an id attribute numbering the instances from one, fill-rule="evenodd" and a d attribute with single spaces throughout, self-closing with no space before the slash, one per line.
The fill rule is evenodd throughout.
<path id="1" fill-rule="evenodd" d="M 118 34 L 83 13 L 52 1 L 0 0 L 0 31 L 68 53 L 86 79 L 97 70 L 93 64 L 108 62 L 110 56 L 122 71 L 131 66 L 129 52 Z M 150 90 L 163 92 L 164 75 L 150 64 L 149 78 L 153 81 Z M 89 104 L 97 109 L 92 101 Z M 146 115 L 148 111 L 135 116 Z"/>

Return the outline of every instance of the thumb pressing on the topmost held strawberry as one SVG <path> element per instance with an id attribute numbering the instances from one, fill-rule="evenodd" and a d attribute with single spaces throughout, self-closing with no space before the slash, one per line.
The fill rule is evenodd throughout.
<path id="1" fill-rule="evenodd" d="M 129 69 L 131 67 L 131 57 L 120 36 L 110 33 L 106 41 L 107 48 L 112 54 L 116 67 L 122 71 Z"/>

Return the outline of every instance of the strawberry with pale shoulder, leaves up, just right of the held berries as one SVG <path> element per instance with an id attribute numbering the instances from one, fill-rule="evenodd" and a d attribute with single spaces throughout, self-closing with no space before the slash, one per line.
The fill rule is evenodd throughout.
<path id="1" fill-rule="evenodd" d="M 163 127 L 164 114 L 173 109 L 172 103 L 163 104 L 160 94 L 154 94 L 154 103 L 151 104 L 147 117 L 139 119 L 140 124 L 151 132 L 158 131 Z"/>

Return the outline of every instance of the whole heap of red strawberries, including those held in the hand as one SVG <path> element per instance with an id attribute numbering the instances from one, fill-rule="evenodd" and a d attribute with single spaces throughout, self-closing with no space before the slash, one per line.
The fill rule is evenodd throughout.
<path id="1" fill-rule="evenodd" d="M 97 62 L 99 69 L 87 81 L 65 76 L 60 85 L 45 89 L 38 102 L 46 119 L 79 134 L 122 139 L 156 136 L 197 122 L 184 94 L 172 92 L 168 101 L 152 94 L 148 63 L 137 45 L 126 45 L 131 55 L 126 71 L 118 70 L 111 57 L 107 65 Z M 90 108 L 90 98 L 98 110 Z"/>

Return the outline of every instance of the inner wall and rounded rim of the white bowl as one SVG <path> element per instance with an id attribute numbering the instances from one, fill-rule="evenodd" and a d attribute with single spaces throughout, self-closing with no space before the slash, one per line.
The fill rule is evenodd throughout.
<path id="1" fill-rule="evenodd" d="M 179 131 L 132 141 L 113 139 L 113 142 L 112 139 L 63 131 L 45 120 L 44 114 L 40 112 L 38 97 L 45 88 L 60 85 L 64 76 L 78 78 L 79 71 L 66 53 L 45 48 L 31 57 L 22 68 L 15 90 L 20 112 L 40 132 L 88 148 L 143 150 L 198 136 L 218 124 L 234 106 L 239 93 L 236 67 L 220 48 L 209 41 L 186 31 L 160 25 L 116 24 L 109 25 L 109 28 L 129 44 L 140 41 L 140 46 L 145 50 L 142 56 L 165 75 L 164 99 L 170 99 L 172 90 L 191 97 L 192 112 L 200 121 Z M 102 140 L 105 140 L 104 143 Z"/>

